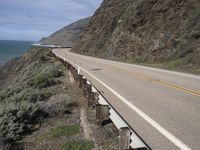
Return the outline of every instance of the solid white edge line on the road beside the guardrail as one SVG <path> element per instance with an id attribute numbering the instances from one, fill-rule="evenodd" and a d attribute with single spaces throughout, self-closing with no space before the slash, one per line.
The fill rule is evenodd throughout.
<path id="1" fill-rule="evenodd" d="M 74 65 L 78 66 L 74 63 Z M 78 66 L 80 67 L 80 66 Z M 153 126 L 156 130 L 158 130 L 163 136 L 165 136 L 169 141 L 171 141 L 174 145 L 179 147 L 181 150 L 192 150 L 190 147 L 188 147 L 186 144 L 184 144 L 181 140 L 176 138 L 173 134 L 171 134 L 169 131 L 167 131 L 164 127 L 162 127 L 159 123 L 151 119 L 147 114 L 145 114 L 142 110 L 137 108 L 135 105 L 130 103 L 126 98 L 121 96 L 119 93 L 117 93 L 115 90 L 110 88 L 107 84 L 102 82 L 100 79 L 86 71 L 85 69 L 81 68 L 85 73 L 90 75 L 92 78 L 94 78 L 96 81 L 101 83 L 103 86 L 105 86 L 108 90 L 110 90 L 114 95 L 116 95 L 121 101 L 123 101 L 128 107 L 130 107 L 132 110 L 134 110 L 138 115 L 140 115 L 144 120 L 146 120 L 151 126 Z"/>

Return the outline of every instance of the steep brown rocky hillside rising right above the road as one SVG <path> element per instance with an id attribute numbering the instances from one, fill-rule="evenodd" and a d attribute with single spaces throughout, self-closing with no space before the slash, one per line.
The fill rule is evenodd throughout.
<path id="1" fill-rule="evenodd" d="M 198 70 L 200 1 L 104 0 L 73 51 Z"/>

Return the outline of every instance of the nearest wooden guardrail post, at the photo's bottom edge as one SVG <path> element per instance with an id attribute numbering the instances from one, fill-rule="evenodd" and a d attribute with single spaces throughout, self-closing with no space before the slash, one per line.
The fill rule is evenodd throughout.
<path id="1" fill-rule="evenodd" d="M 119 150 L 130 149 L 131 130 L 129 127 L 119 129 Z"/>

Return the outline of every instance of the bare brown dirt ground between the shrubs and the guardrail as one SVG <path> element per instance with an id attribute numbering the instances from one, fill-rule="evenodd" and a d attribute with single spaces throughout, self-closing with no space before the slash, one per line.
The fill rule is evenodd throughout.
<path id="1" fill-rule="evenodd" d="M 76 103 L 76 105 L 71 108 L 70 113 L 56 113 L 57 115 L 55 115 L 53 108 L 55 107 L 56 112 L 59 112 L 62 107 L 56 105 L 64 103 L 63 98 L 66 93 L 52 96 L 50 101 L 47 102 L 49 106 L 47 110 L 50 110 L 53 114 L 51 118 L 45 119 L 41 126 L 38 124 L 35 127 L 36 130 L 32 134 L 26 135 L 24 139 L 16 142 L 12 146 L 12 150 L 64 150 L 69 147 L 70 150 L 73 150 L 74 148 L 79 149 L 81 146 L 94 150 L 118 149 L 118 130 L 115 126 L 113 124 L 103 127 L 97 125 L 95 109 L 93 107 L 87 108 L 87 100 L 83 97 L 78 84 L 76 82 L 71 83 L 69 76 L 60 80 L 65 85 L 63 85 L 63 89 L 67 91 L 68 96 L 73 99 L 73 103 Z M 53 103 L 50 103 L 51 101 Z M 51 104 L 55 106 L 52 107 Z M 52 131 L 55 131 L 55 129 L 77 125 L 80 125 L 78 134 L 62 133 L 52 137 Z M 74 147 L 73 143 L 77 143 L 77 147 Z"/>

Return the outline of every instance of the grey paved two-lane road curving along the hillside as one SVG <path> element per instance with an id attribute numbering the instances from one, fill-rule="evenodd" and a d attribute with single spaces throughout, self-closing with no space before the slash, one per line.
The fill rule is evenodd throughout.
<path id="1" fill-rule="evenodd" d="M 54 53 L 81 68 L 155 150 L 200 149 L 200 76 L 75 54 Z"/>

